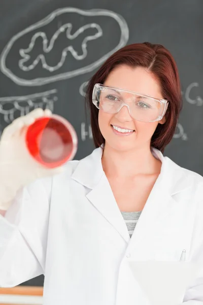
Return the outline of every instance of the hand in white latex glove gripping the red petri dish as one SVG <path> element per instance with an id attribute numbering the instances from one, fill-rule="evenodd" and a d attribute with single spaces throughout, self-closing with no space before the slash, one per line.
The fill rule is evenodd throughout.
<path id="1" fill-rule="evenodd" d="M 27 150 L 27 127 L 36 118 L 51 116 L 50 110 L 35 109 L 7 126 L 0 140 L 0 209 L 7 210 L 17 191 L 38 178 L 62 172 L 63 167 L 46 168 L 33 159 Z"/>

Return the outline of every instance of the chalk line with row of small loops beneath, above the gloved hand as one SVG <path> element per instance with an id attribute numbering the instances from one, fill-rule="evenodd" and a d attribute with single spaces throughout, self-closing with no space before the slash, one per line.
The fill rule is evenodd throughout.
<path id="1" fill-rule="evenodd" d="M 20 116 L 26 115 L 35 108 L 50 109 L 53 112 L 54 102 L 57 100 L 56 89 L 27 96 L 4 97 L 0 98 L 0 114 L 3 114 L 4 121 L 10 124 L 15 119 L 16 111 L 18 115 L 20 112 Z"/>

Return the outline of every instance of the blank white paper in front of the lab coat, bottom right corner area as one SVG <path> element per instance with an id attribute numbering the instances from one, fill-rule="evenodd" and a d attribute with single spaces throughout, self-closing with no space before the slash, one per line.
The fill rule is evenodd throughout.
<path id="1" fill-rule="evenodd" d="M 182 303 L 187 286 L 195 279 L 197 265 L 190 262 L 128 261 L 134 278 L 151 305 Z"/>

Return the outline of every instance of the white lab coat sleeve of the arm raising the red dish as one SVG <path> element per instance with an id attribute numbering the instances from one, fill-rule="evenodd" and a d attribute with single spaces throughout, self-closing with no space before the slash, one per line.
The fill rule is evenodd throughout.
<path id="1" fill-rule="evenodd" d="M 52 178 L 19 190 L 0 215 L 0 287 L 44 274 Z"/>

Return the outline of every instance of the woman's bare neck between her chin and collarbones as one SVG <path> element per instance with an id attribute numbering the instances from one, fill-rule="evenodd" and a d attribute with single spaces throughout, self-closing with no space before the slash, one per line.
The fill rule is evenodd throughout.
<path id="1" fill-rule="evenodd" d="M 150 146 L 120 151 L 105 144 L 101 161 L 105 174 L 114 177 L 159 174 L 161 169 L 161 162 L 152 155 Z"/>

